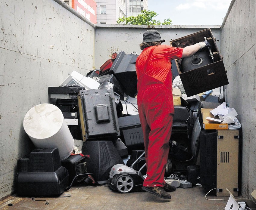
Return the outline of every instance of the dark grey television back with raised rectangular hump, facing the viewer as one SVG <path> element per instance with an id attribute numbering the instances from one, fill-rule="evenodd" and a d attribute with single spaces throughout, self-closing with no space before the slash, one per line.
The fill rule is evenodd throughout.
<path id="1" fill-rule="evenodd" d="M 112 88 L 80 91 L 78 108 L 84 141 L 120 136 Z"/>

